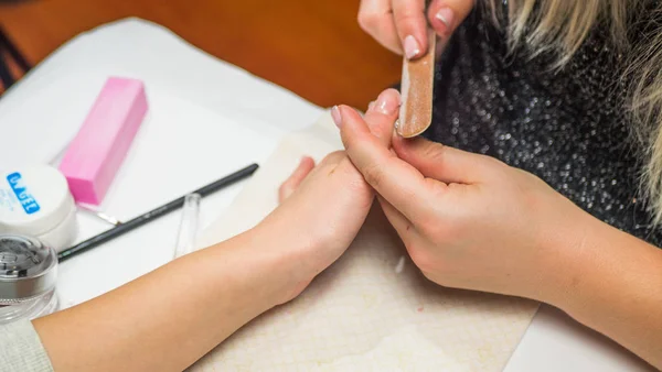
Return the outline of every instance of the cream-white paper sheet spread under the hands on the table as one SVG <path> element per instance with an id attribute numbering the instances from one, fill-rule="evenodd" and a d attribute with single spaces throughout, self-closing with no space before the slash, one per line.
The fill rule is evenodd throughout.
<path id="1" fill-rule="evenodd" d="M 330 128 L 324 119 L 284 140 L 202 245 L 268 215 L 302 155 L 321 158 L 340 147 Z M 241 329 L 191 370 L 501 371 L 536 309 L 530 300 L 428 282 L 375 207 L 348 252 L 301 296 Z"/>

